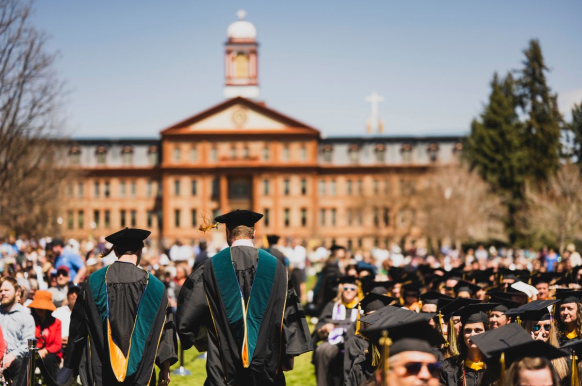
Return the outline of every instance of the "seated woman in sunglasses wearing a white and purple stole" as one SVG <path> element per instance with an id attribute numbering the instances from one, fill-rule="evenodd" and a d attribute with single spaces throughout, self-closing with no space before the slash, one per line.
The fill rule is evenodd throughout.
<path id="1" fill-rule="evenodd" d="M 356 321 L 358 281 L 353 276 L 338 278 L 338 296 L 325 305 L 313 333 L 317 386 L 343 384 L 343 349 L 347 329 Z"/>

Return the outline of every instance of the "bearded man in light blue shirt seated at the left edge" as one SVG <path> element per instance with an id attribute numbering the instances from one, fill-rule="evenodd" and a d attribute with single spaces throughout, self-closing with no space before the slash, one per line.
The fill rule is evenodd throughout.
<path id="1" fill-rule="evenodd" d="M 27 351 L 27 341 L 34 339 L 35 328 L 29 310 L 16 302 L 16 292 L 19 289 L 15 278 L 0 279 L 0 325 L 6 340 L 3 369 L 4 376 L 12 379 L 13 384 L 19 384 L 19 378 L 26 377 L 26 372 L 20 371 L 20 367 Z"/>

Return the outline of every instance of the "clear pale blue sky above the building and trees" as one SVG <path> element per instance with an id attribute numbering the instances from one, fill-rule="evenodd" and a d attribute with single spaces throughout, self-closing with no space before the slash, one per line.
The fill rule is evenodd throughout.
<path id="1" fill-rule="evenodd" d="M 466 134 L 494 74 L 541 42 L 570 117 L 582 102 L 582 1 L 37 0 L 58 52 L 73 137 L 158 137 L 224 100 L 226 28 L 257 28 L 260 100 L 325 136 L 366 135 L 372 91 L 385 135 Z"/>

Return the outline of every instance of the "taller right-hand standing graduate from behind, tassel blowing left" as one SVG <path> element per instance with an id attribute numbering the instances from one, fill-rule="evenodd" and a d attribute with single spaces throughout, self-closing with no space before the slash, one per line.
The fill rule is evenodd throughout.
<path id="1" fill-rule="evenodd" d="M 261 217 L 218 216 L 230 247 L 198 266 L 180 291 L 180 341 L 208 352 L 205 385 L 284 385 L 294 356 L 313 349 L 285 265 L 253 245 Z"/>

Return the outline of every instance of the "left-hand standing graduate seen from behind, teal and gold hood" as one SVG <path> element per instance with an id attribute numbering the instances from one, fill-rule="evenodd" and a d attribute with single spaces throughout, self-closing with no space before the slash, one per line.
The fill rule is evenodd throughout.
<path id="1" fill-rule="evenodd" d="M 118 260 L 86 280 L 74 305 L 65 367 L 88 385 L 169 383 L 176 332 L 164 284 L 137 267 L 150 231 L 125 228 L 105 240 Z"/>

